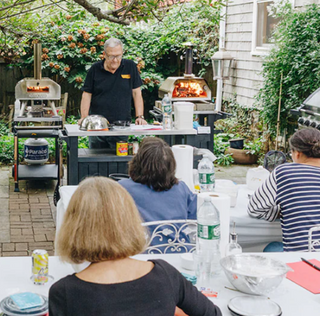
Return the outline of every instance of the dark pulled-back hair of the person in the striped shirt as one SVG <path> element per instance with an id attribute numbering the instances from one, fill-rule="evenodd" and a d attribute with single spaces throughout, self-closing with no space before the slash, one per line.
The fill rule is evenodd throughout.
<path id="1" fill-rule="evenodd" d="M 289 139 L 291 150 L 299 151 L 309 158 L 320 158 L 320 132 L 315 128 L 304 128 Z"/>

